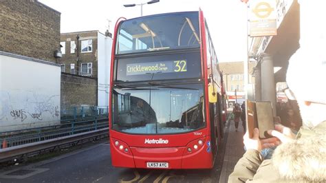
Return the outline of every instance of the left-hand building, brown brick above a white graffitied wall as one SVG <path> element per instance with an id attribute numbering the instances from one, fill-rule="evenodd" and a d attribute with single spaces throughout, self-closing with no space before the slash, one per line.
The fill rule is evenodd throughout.
<path id="1" fill-rule="evenodd" d="M 39 1 L 0 1 L 0 132 L 60 124 L 60 19 Z"/>

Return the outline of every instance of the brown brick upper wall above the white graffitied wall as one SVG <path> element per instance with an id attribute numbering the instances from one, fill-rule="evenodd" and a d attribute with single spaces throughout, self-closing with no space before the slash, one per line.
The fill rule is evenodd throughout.
<path id="1" fill-rule="evenodd" d="M 0 50 L 55 62 L 61 13 L 39 1 L 0 1 Z"/>

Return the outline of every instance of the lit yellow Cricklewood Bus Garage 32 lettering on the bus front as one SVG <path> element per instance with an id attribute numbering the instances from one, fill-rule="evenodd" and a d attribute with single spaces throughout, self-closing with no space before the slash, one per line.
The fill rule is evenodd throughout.
<path id="1" fill-rule="evenodd" d="M 127 76 L 153 73 L 186 72 L 187 61 L 161 61 L 127 64 Z"/>

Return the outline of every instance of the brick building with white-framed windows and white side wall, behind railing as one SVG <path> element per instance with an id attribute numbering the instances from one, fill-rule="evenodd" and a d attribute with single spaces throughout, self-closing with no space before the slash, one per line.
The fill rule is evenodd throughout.
<path id="1" fill-rule="evenodd" d="M 61 34 L 62 107 L 109 105 L 110 36 L 98 30 Z"/>

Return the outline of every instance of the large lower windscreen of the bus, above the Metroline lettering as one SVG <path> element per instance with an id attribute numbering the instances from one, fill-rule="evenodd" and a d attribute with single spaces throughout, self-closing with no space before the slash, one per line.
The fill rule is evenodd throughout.
<path id="1" fill-rule="evenodd" d="M 113 88 L 113 129 L 124 133 L 186 133 L 205 127 L 202 83 Z"/>

